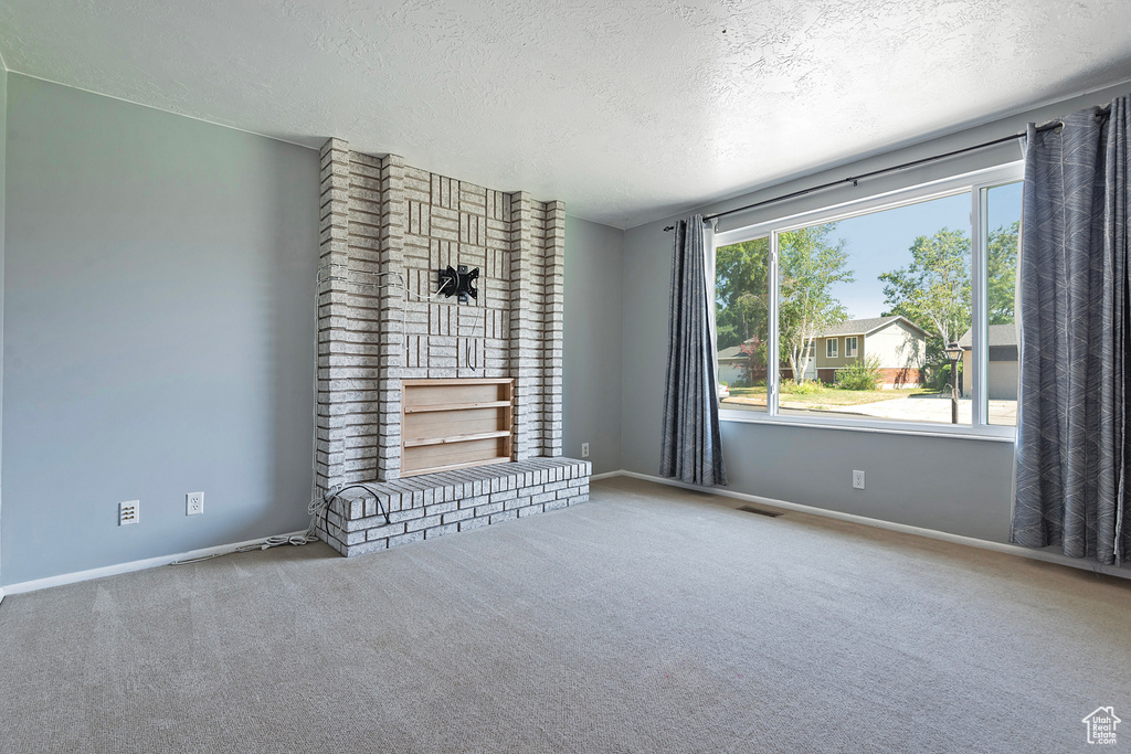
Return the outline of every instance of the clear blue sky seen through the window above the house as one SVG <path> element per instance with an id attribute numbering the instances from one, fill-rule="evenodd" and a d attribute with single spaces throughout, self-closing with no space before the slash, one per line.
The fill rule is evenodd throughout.
<path id="1" fill-rule="evenodd" d="M 991 189 L 988 209 L 991 229 L 1020 219 L 1021 183 Z M 848 309 L 848 317 L 880 317 L 884 311 L 880 274 L 909 265 L 909 249 L 917 236 L 934 235 L 943 227 L 969 236 L 969 215 L 970 196 L 961 193 L 840 220 L 830 240 L 847 242 L 848 266 L 856 279 L 832 291 Z"/>

